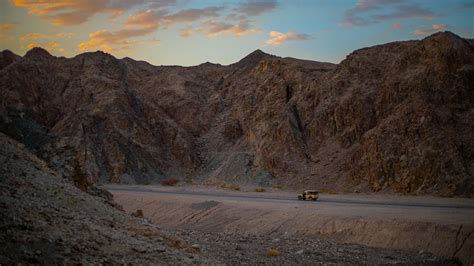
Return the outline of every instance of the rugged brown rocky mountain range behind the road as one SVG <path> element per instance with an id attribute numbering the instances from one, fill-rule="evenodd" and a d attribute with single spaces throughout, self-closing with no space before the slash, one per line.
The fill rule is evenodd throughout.
<path id="1" fill-rule="evenodd" d="M 209 179 L 474 194 L 474 46 L 450 32 L 340 64 L 0 55 L 0 129 L 87 183 Z M 77 171 L 76 171 L 77 172 Z"/>

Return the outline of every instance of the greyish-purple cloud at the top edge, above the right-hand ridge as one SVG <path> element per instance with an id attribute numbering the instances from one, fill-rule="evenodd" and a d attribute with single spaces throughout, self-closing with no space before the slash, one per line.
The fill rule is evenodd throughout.
<path id="1" fill-rule="evenodd" d="M 366 26 L 392 19 L 437 17 L 432 11 L 407 0 L 359 0 L 341 20 L 343 26 Z"/>

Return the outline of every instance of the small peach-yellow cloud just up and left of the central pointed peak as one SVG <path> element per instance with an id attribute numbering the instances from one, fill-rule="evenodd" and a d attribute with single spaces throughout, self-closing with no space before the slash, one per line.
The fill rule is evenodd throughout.
<path id="1" fill-rule="evenodd" d="M 235 37 L 241 37 L 261 31 L 259 28 L 252 28 L 247 20 L 241 20 L 237 24 L 209 20 L 202 23 L 198 30 L 208 37 L 222 34 L 233 34 Z"/>

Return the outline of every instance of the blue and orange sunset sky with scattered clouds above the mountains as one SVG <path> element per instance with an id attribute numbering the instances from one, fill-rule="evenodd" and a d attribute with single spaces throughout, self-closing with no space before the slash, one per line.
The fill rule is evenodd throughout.
<path id="1" fill-rule="evenodd" d="M 474 38 L 474 0 L 0 0 L 0 50 L 154 65 L 231 64 L 256 49 L 339 63 L 445 30 Z"/>

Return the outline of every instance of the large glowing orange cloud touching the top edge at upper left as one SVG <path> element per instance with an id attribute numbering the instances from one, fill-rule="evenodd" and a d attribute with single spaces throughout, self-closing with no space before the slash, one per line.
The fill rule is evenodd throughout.
<path id="1" fill-rule="evenodd" d="M 98 13 L 117 17 L 124 10 L 144 3 L 145 0 L 13 0 L 14 5 L 56 26 L 82 24 Z"/>

